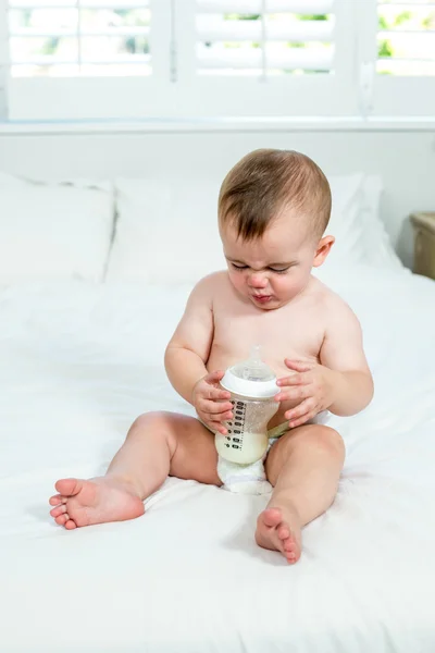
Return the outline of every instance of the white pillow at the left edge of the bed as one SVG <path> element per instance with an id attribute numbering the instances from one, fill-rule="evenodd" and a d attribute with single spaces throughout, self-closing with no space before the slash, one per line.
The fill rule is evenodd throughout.
<path id="1" fill-rule="evenodd" d="M 45 184 L 0 174 L 0 284 L 101 281 L 112 231 L 109 184 Z"/>

